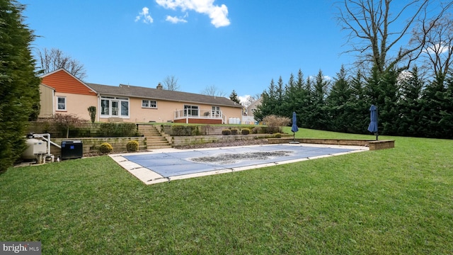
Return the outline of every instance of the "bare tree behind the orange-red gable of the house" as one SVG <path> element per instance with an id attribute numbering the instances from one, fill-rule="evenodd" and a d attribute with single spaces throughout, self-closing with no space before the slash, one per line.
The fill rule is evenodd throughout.
<path id="1" fill-rule="evenodd" d="M 48 50 L 47 48 L 44 48 L 38 50 L 38 57 L 39 63 L 41 64 L 40 68 L 46 74 L 64 68 L 67 72 L 74 75 L 74 77 L 81 80 L 86 78 L 84 65 L 79 61 L 74 60 L 72 57 L 65 55 L 64 52 L 59 49 L 52 48 Z"/>

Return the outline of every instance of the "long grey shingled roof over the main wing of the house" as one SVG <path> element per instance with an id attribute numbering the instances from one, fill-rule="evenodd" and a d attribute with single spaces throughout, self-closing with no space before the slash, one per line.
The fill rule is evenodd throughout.
<path id="1" fill-rule="evenodd" d="M 108 86 L 103 84 L 86 83 L 98 94 L 112 96 L 130 96 L 135 98 L 149 98 L 164 101 L 176 101 L 183 103 L 204 103 L 212 106 L 229 106 L 242 108 L 241 104 L 231 101 L 222 96 L 206 96 L 181 91 L 169 91 L 166 89 L 151 89 L 140 86 L 120 84 L 120 86 Z"/>

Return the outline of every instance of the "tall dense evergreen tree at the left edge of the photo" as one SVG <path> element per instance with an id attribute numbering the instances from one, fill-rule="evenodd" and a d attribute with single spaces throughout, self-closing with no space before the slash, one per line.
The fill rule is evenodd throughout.
<path id="1" fill-rule="evenodd" d="M 30 51 L 34 35 L 24 24 L 24 8 L 0 0 L 0 172 L 22 154 L 28 119 L 39 113 L 40 79 Z"/>

